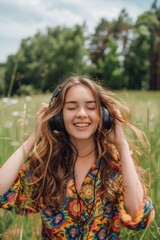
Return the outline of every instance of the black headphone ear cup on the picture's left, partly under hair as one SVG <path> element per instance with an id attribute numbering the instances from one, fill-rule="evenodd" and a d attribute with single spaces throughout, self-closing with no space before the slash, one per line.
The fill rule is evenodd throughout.
<path id="1" fill-rule="evenodd" d="M 66 131 L 63 120 L 62 111 L 58 112 L 55 116 L 49 119 L 49 126 L 52 131 L 56 130 L 58 132 Z"/>

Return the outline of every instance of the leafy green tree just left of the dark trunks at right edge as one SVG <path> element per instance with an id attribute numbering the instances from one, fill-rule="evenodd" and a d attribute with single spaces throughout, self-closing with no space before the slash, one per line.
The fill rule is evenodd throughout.
<path id="1" fill-rule="evenodd" d="M 134 33 L 136 37 L 125 56 L 125 79 L 129 89 L 141 89 L 147 87 L 149 80 L 150 33 L 145 26 L 135 28 Z"/>

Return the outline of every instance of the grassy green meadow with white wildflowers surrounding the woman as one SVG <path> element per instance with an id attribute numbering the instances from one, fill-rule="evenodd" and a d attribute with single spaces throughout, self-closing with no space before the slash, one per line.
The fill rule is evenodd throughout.
<path id="1" fill-rule="evenodd" d="M 133 122 L 147 135 L 151 151 L 142 155 L 139 164 L 147 178 L 148 194 L 152 198 L 156 216 L 153 224 L 143 232 L 123 230 L 121 239 L 160 239 L 160 92 L 121 91 L 117 94 L 131 109 Z M 0 164 L 29 136 L 34 115 L 50 95 L 0 99 Z M 0 239 L 40 239 L 41 222 L 38 214 L 20 217 L 0 211 Z"/>

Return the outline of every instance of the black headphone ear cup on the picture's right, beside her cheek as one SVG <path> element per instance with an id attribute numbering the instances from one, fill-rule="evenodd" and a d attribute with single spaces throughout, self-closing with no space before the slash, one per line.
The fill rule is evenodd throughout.
<path id="1" fill-rule="evenodd" d="M 102 127 L 107 132 L 110 132 L 113 126 L 113 117 L 110 115 L 106 107 L 102 107 L 101 111 L 102 111 Z"/>

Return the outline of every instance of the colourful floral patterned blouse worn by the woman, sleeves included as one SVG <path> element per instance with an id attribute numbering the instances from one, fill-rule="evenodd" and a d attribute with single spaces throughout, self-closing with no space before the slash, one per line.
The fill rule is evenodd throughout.
<path id="1" fill-rule="evenodd" d="M 46 206 L 43 198 L 36 206 L 27 200 L 26 179 L 30 177 L 22 168 L 11 189 L 0 197 L 0 207 L 14 210 L 21 215 L 40 212 L 43 240 L 119 239 L 120 225 L 129 229 L 144 229 L 154 219 L 154 209 L 145 196 L 143 206 L 132 220 L 124 207 L 121 183 L 121 168 L 112 164 L 108 171 L 107 191 L 104 192 L 101 180 L 102 161 L 93 164 L 79 193 L 73 176 L 66 183 L 64 202 L 59 210 Z"/>

